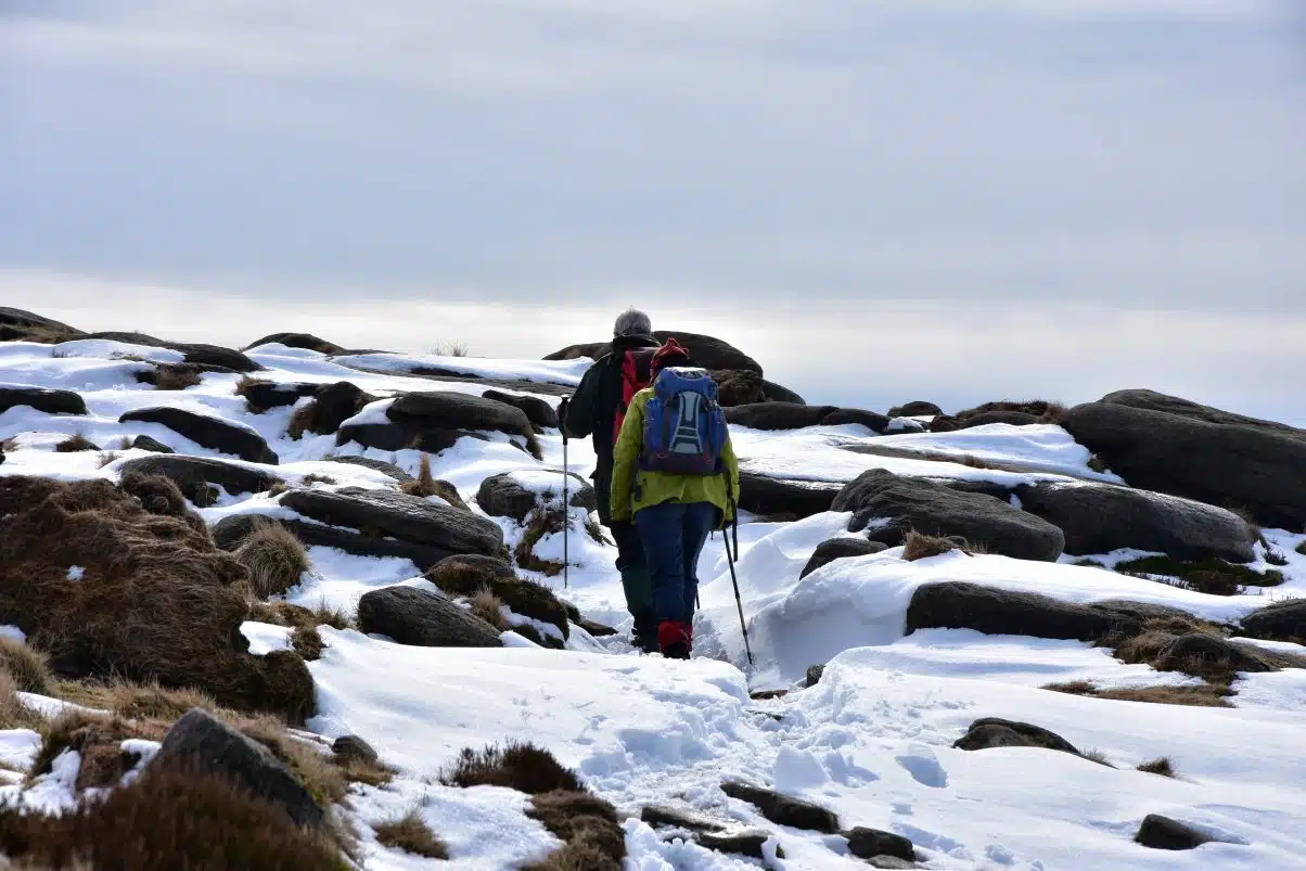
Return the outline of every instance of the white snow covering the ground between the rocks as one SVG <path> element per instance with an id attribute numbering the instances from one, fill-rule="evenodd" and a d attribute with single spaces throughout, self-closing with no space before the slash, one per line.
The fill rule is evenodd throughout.
<path id="1" fill-rule="evenodd" d="M 259 377 L 324 384 L 349 380 L 381 400 L 413 390 L 477 396 L 485 390 L 474 381 L 406 375 L 415 368 L 573 385 L 586 364 L 400 355 L 334 360 L 283 346 L 263 346 L 249 355 L 268 367 Z M 174 351 L 104 341 L 54 349 L 0 343 L 0 384 L 77 390 L 90 411 L 86 417 L 60 417 L 14 407 L 0 414 L 0 441 L 14 439 L 0 475 L 116 479 L 125 460 L 148 456 L 118 449 L 123 439 L 137 435 L 184 453 L 213 453 L 159 424 L 118 422 L 125 411 L 155 405 L 251 427 L 279 456 L 276 474 L 291 484 L 308 475 L 326 475 L 330 482 L 319 479 L 312 486 L 393 486 L 390 478 L 370 469 L 326 461 L 332 453 L 364 454 L 410 473 L 418 469 L 421 454 L 415 451 L 337 447 L 333 436 L 289 439 L 293 407 L 248 411 L 234 393 L 234 375 L 204 375 L 200 385 L 180 392 L 155 392 L 136 381 L 135 375 L 150 366 L 141 360 L 176 359 Z M 556 402 L 550 393 L 538 396 Z M 380 417 L 383 410 L 379 402 L 363 415 Z M 55 445 L 73 434 L 86 436 L 103 452 L 56 453 Z M 1088 452 L 1054 426 L 998 424 L 956 434 L 880 437 L 858 426 L 797 432 L 735 430 L 734 440 L 744 467 L 780 478 L 844 482 L 866 469 L 884 467 L 908 475 L 1006 484 L 1067 475 L 1113 481 L 1109 473 L 1089 469 Z M 473 511 L 479 511 L 474 498 L 488 475 L 521 471 L 521 479 L 532 486 L 547 486 L 556 477 L 543 471 L 562 469 L 562 439 L 547 431 L 539 441 L 543 461 L 520 451 L 507 436 L 464 439 L 432 457 L 432 471 L 452 482 Z M 848 449 L 854 445 L 889 448 L 899 456 Z M 592 471 L 594 454 L 588 441 L 571 441 L 567 456 L 572 471 L 582 477 Z M 963 462 L 966 457 L 996 467 L 968 465 Z M 273 496 L 246 494 L 223 495 L 200 513 L 213 524 L 230 515 L 289 512 Z M 615 548 L 584 534 L 584 513 L 572 511 L 565 580 L 562 575 L 533 577 L 586 616 L 626 629 L 629 620 L 613 565 Z M 521 534 L 515 521 L 496 522 L 509 547 L 515 545 Z M 720 784 L 730 777 L 824 804 L 849 828 L 866 825 L 905 834 L 916 842 L 923 866 L 931 868 L 1306 867 L 1306 720 L 1301 713 L 1306 671 L 1241 679 L 1234 708 L 1177 708 L 1041 688 L 1072 680 L 1102 688 L 1194 682 L 1144 665 L 1123 665 L 1088 644 L 957 629 L 905 636 L 913 590 L 936 581 L 1029 590 L 1071 602 L 1156 602 L 1217 620 L 1243 616 L 1269 601 L 1268 595 L 1213 597 L 1100 568 L 960 552 L 906 563 L 897 548 L 838 560 L 799 580 L 814 548 L 844 534 L 846 522 L 846 515 L 825 513 L 795 524 L 741 528 L 737 572 L 752 666 L 744 656 L 720 537 L 708 543 L 700 560 L 699 658 L 690 662 L 639 657 L 623 636 L 594 641 L 580 631 L 573 632 L 568 650 L 525 641 L 504 649 L 460 650 L 404 646 L 357 631 L 321 628 L 326 646 L 310 665 L 319 714 L 310 727 L 325 738 L 362 735 L 400 770 L 393 784 L 358 787 L 351 798 L 350 814 L 359 824 L 368 867 L 505 868 L 539 859 L 555 847 L 556 840 L 525 816 L 521 794 L 438 785 L 435 776 L 462 747 L 509 738 L 546 746 L 619 810 L 635 815 L 626 832 L 628 867 L 639 871 L 759 866 L 695 845 L 661 841 L 637 821 L 648 803 L 696 808 L 776 832 L 786 855 L 771 862 L 776 868 L 867 867 L 848 854 L 838 836 L 777 828 L 752 806 L 726 798 Z M 1288 562 L 1280 569 L 1286 582 L 1273 595 L 1306 592 L 1306 556 L 1296 552 L 1306 535 L 1267 530 L 1267 539 Z M 535 547 L 546 559 L 560 560 L 563 551 L 562 534 L 547 535 Z M 1264 548 L 1259 555 L 1264 559 Z M 350 556 L 325 547 L 310 548 L 310 558 L 312 568 L 289 593 L 291 602 L 325 602 L 347 611 L 372 589 L 428 585 L 418 568 L 402 559 Z M 1109 556 L 1100 562 L 1109 562 Z M 255 653 L 287 644 L 279 627 L 249 623 L 244 631 Z M 802 688 L 807 667 L 820 663 L 828 663 L 821 680 Z M 791 692 L 768 701 L 750 697 L 750 692 L 773 688 Z M 1100 751 L 1115 768 L 1043 750 L 952 748 L 972 721 L 990 716 L 1051 729 L 1080 750 Z M 22 768 L 34 752 L 34 733 L 0 733 L 0 764 Z M 1160 756 L 1173 760 L 1178 778 L 1132 770 Z M 57 761 L 24 800 L 61 806 L 73 761 Z M 18 793 L 17 786 L 0 793 L 4 790 Z M 419 859 L 376 842 L 371 825 L 413 807 L 449 844 L 452 863 Z M 1188 853 L 1147 850 L 1131 838 L 1148 814 L 1179 819 L 1226 842 Z"/>

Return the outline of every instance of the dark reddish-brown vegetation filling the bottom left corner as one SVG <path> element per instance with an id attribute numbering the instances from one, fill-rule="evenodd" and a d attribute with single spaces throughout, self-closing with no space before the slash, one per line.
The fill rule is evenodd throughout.
<path id="1" fill-rule="evenodd" d="M 229 781 L 165 768 L 61 816 L 0 807 L 0 853 L 18 867 L 132 871 L 346 871 L 340 849 Z M 85 863 L 85 864 L 82 864 Z"/>

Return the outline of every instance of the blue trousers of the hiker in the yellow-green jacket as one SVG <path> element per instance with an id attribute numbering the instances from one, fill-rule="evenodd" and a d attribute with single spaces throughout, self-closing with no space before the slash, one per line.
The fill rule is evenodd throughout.
<path id="1" fill-rule="evenodd" d="M 658 622 L 693 623 L 699 554 L 718 516 L 710 501 L 665 501 L 635 512 Z"/>

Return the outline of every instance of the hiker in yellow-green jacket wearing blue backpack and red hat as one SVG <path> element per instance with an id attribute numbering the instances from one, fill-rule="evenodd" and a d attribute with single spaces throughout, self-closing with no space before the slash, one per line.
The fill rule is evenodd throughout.
<path id="1" fill-rule="evenodd" d="M 675 340 L 654 355 L 652 387 L 635 394 L 616 439 L 611 504 L 615 522 L 633 518 L 639 530 L 658 649 L 677 659 L 688 659 L 693 646 L 699 554 L 708 534 L 734 518 L 739 496 L 716 384 L 687 362 Z"/>

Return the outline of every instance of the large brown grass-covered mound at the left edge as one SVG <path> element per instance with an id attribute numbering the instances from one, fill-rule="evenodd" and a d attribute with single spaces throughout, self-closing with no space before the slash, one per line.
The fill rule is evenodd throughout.
<path id="1" fill-rule="evenodd" d="M 22 629 L 60 676 L 158 680 L 295 722 L 312 713 L 296 654 L 246 653 L 248 575 L 202 526 L 150 513 L 107 481 L 0 477 L 0 624 Z"/>

